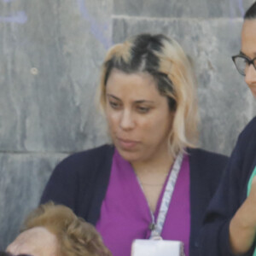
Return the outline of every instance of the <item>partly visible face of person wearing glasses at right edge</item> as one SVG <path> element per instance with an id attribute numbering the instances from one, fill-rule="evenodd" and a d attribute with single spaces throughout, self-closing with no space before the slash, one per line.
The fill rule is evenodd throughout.
<path id="1" fill-rule="evenodd" d="M 250 59 L 256 57 L 256 19 L 245 20 L 241 30 L 241 53 Z M 256 70 L 253 65 L 247 68 L 245 81 L 256 98 Z"/>

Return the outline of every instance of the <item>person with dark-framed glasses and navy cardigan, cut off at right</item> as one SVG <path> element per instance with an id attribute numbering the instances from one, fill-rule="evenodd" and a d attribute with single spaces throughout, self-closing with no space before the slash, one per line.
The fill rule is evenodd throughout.
<path id="1" fill-rule="evenodd" d="M 256 2 L 247 10 L 241 51 L 232 57 L 256 98 Z M 207 209 L 202 256 L 256 255 L 256 118 L 238 137 L 224 177 Z"/>

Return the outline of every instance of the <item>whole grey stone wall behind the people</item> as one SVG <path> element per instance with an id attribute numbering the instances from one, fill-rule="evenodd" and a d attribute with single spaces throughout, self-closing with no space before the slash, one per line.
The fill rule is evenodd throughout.
<path id="1" fill-rule="evenodd" d="M 230 59 L 253 0 L 0 0 L 0 249 L 55 164 L 106 142 L 95 95 L 108 47 L 165 33 L 194 59 L 201 147 L 230 154 L 256 106 Z"/>

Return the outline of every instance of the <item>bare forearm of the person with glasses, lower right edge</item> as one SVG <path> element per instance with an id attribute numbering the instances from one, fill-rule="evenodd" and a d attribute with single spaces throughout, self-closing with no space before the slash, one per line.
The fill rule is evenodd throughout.
<path id="1" fill-rule="evenodd" d="M 233 253 L 246 253 L 253 245 L 256 232 L 256 176 L 246 201 L 230 221 L 230 247 Z"/>

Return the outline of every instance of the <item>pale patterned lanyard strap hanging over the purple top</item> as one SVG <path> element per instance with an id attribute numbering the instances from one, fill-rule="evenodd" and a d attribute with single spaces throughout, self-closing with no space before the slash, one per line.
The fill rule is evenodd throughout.
<path id="1" fill-rule="evenodd" d="M 166 214 L 168 212 L 169 205 L 172 200 L 173 190 L 177 182 L 177 176 L 181 169 L 182 162 L 183 162 L 183 153 L 180 152 L 179 154 L 177 154 L 176 160 L 174 161 L 174 164 L 172 166 L 172 172 L 166 183 L 166 189 L 161 201 L 160 211 L 158 213 L 156 224 L 154 224 L 154 214 L 153 212 L 151 212 L 152 220 L 153 220 L 153 229 L 151 231 L 151 235 L 149 239 L 161 239 L 160 234 L 163 230 L 163 226 L 166 220 Z"/>

